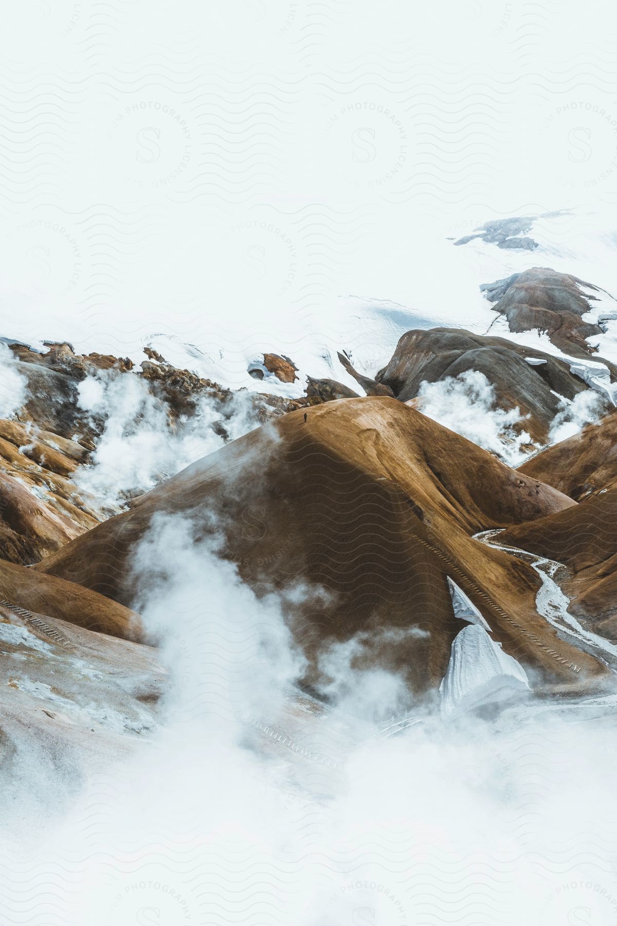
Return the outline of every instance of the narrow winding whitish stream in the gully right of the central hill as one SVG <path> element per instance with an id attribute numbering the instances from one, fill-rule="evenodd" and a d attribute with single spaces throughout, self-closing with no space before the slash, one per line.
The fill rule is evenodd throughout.
<path id="1" fill-rule="evenodd" d="M 555 582 L 553 576 L 563 564 L 556 562 L 554 559 L 538 557 L 534 553 L 528 553 L 526 550 L 520 550 L 517 546 L 506 546 L 504 544 L 494 544 L 492 541 L 502 529 L 493 531 L 483 531 L 476 533 L 474 540 L 479 540 L 487 546 L 492 546 L 496 550 L 503 550 L 505 553 L 512 553 L 517 557 L 524 558 L 532 569 L 535 569 L 542 586 L 536 595 L 537 613 L 549 621 L 558 631 L 567 633 L 579 643 L 583 648 L 589 648 L 605 665 L 610 669 L 616 669 L 615 657 L 617 657 L 617 645 L 611 644 L 608 640 L 598 636 L 597 633 L 586 631 L 576 618 L 568 611 L 570 599 L 563 594 L 561 588 Z"/>

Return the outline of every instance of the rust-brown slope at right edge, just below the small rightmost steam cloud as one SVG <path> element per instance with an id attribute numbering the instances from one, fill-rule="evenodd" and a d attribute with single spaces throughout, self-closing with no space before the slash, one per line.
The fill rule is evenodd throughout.
<path id="1" fill-rule="evenodd" d="M 518 470 L 579 500 L 617 485 L 617 409 Z"/>

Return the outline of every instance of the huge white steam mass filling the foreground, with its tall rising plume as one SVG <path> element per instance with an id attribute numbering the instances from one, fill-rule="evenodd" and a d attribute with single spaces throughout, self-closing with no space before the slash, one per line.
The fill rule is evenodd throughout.
<path id="1" fill-rule="evenodd" d="M 134 581 L 172 673 L 164 722 L 43 845 L 7 845 L 0 878 L 56 891 L 46 924 L 615 921 L 615 747 L 591 720 L 614 698 L 445 723 L 374 673 L 375 716 L 422 721 L 389 736 L 349 696 L 364 638 L 323 657 L 333 703 L 302 703 L 284 616 L 306 589 L 257 598 L 179 517 Z"/>

